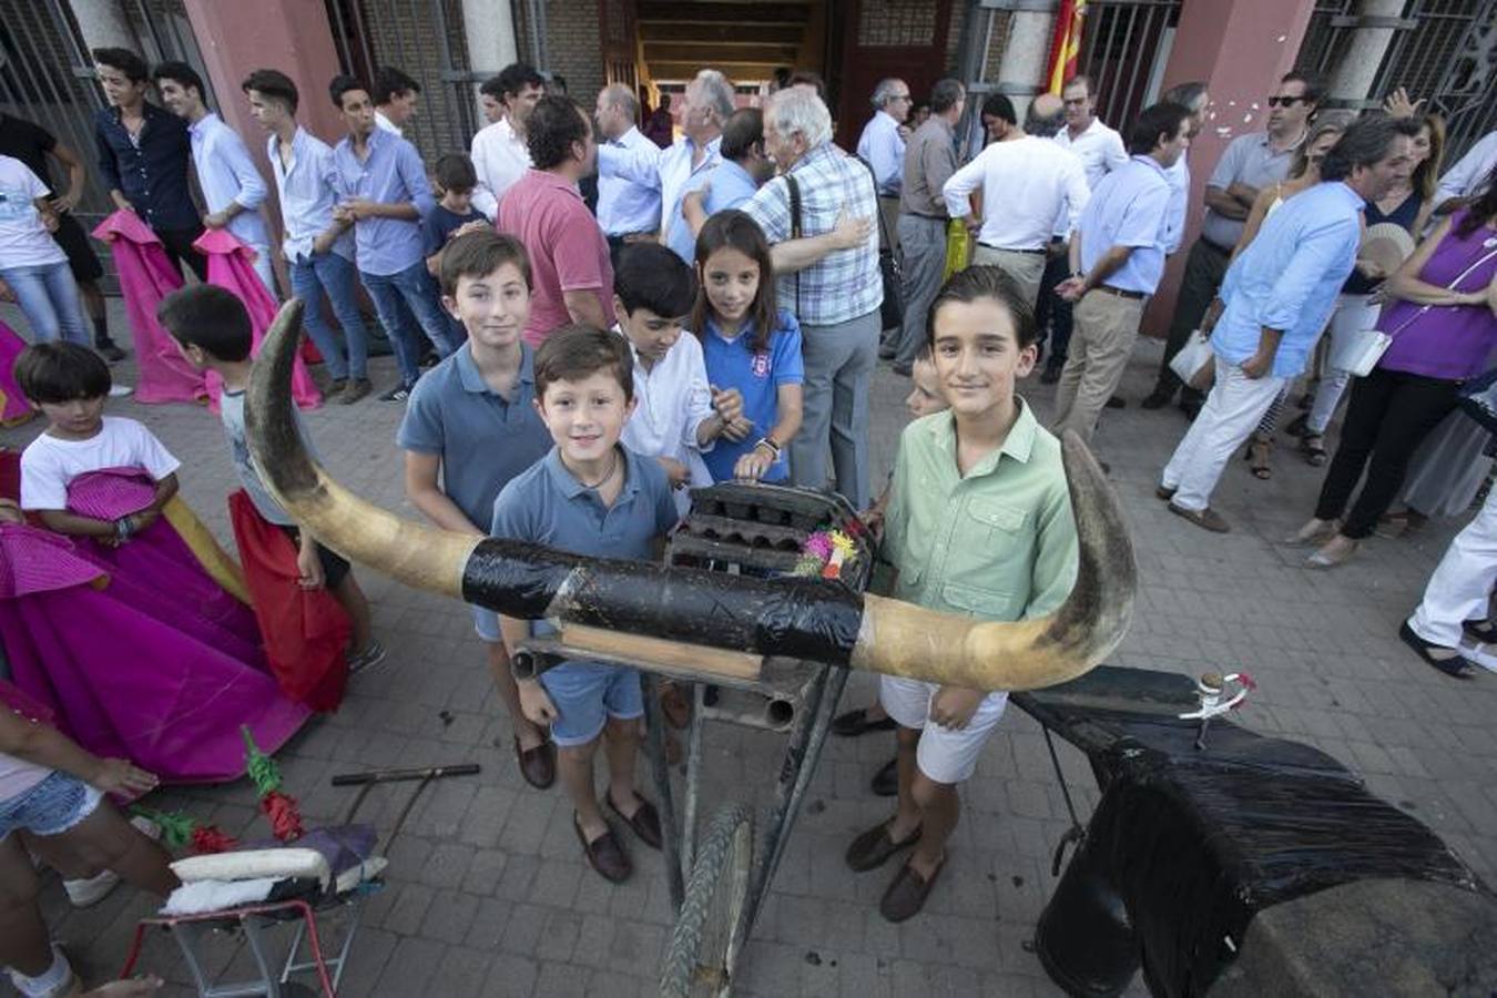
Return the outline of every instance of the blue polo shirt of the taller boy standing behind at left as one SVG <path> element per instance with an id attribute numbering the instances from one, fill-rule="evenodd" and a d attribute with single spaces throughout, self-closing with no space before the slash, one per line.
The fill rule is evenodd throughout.
<path id="1" fill-rule="evenodd" d="M 473 350 L 461 349 L 416 382 L 395 443 L 442 458 L 442 491 L 475 527 L 494 515 L 504 485 L 545 456 L 551 434 L 536 407 L 534 356 L 521 344 L 519 380 L 506 401 L 479 374 Z"/>

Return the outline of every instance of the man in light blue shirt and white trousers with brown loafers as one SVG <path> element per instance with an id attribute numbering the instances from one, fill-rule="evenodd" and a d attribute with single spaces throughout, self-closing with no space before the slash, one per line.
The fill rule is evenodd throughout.
<path id="1" fill-rule="evenodd" d="M 1415 118 L 1364 118 L 1320 162 L 1322 183 L 1263 221 L 1222 281 L 1211 331 L 1216 385 L 1175 455 L 1159 495 L 1169 512 L 1214 533 L 1231 530 L 1211 509 L 1222 468 L 1284 383 L 1304 371 L 1343 281 L 1356 263 L 1362 206 L 1406 183 Z"/>

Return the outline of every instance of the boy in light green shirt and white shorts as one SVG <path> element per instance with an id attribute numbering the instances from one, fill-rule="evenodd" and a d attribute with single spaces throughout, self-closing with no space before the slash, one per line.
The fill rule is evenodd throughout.
<path id="1" fill-rule="evenodd" d="M 900 440 L 883 536 L 894 596 L 994 621 L 1049 613 L 1076 579 L 1078 545 L 1060 441 L 1013 392 L 1034 367 L 1034 311 L 1012 278 L 972 266 L 937 293 L 928 335 L 951 408 Z M 874 869 L 915 847 L 879 904 L 903 922 L 946 863 L 957 786 L 1007 694 L 885 676 L 879 699 L 900 726 L 898 808 L 853 839 L 847 865 Z"/>

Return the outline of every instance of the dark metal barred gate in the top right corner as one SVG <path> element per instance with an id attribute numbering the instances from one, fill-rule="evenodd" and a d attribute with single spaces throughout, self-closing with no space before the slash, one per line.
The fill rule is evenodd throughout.
<path id="1" fill-rule="evenodd" d="M 1299 69 L 1331 75 L 1359 28 L 1391 30 L 1371 91 L 1340 103 L 1377 108 L 1397 87 L 1424 97 L 1445 115 L 1446 163 L 1497 127 L 1497 0 L 1409 0 L 1398 18 L 1364 18 L 1356 9 L 1356 0 L 1317 3 L 1296 60 Z"/>

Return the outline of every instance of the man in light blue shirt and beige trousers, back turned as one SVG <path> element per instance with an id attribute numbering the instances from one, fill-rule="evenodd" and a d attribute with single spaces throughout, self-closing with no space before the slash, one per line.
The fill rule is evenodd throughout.
<path id="1" fill-rule="evenodd" d="M 1157 103 L 1129 130 L 1132 159 L 1097 181 L 1070 239 L 1072 277 L 1055 287 L 1076 302 L 1055 392 L 1055 434 L 1091 440 L 1138 340 L 1144 304 L 1165 274 L 1168 171 L 1190 145 L 1190 111 Z"/>

